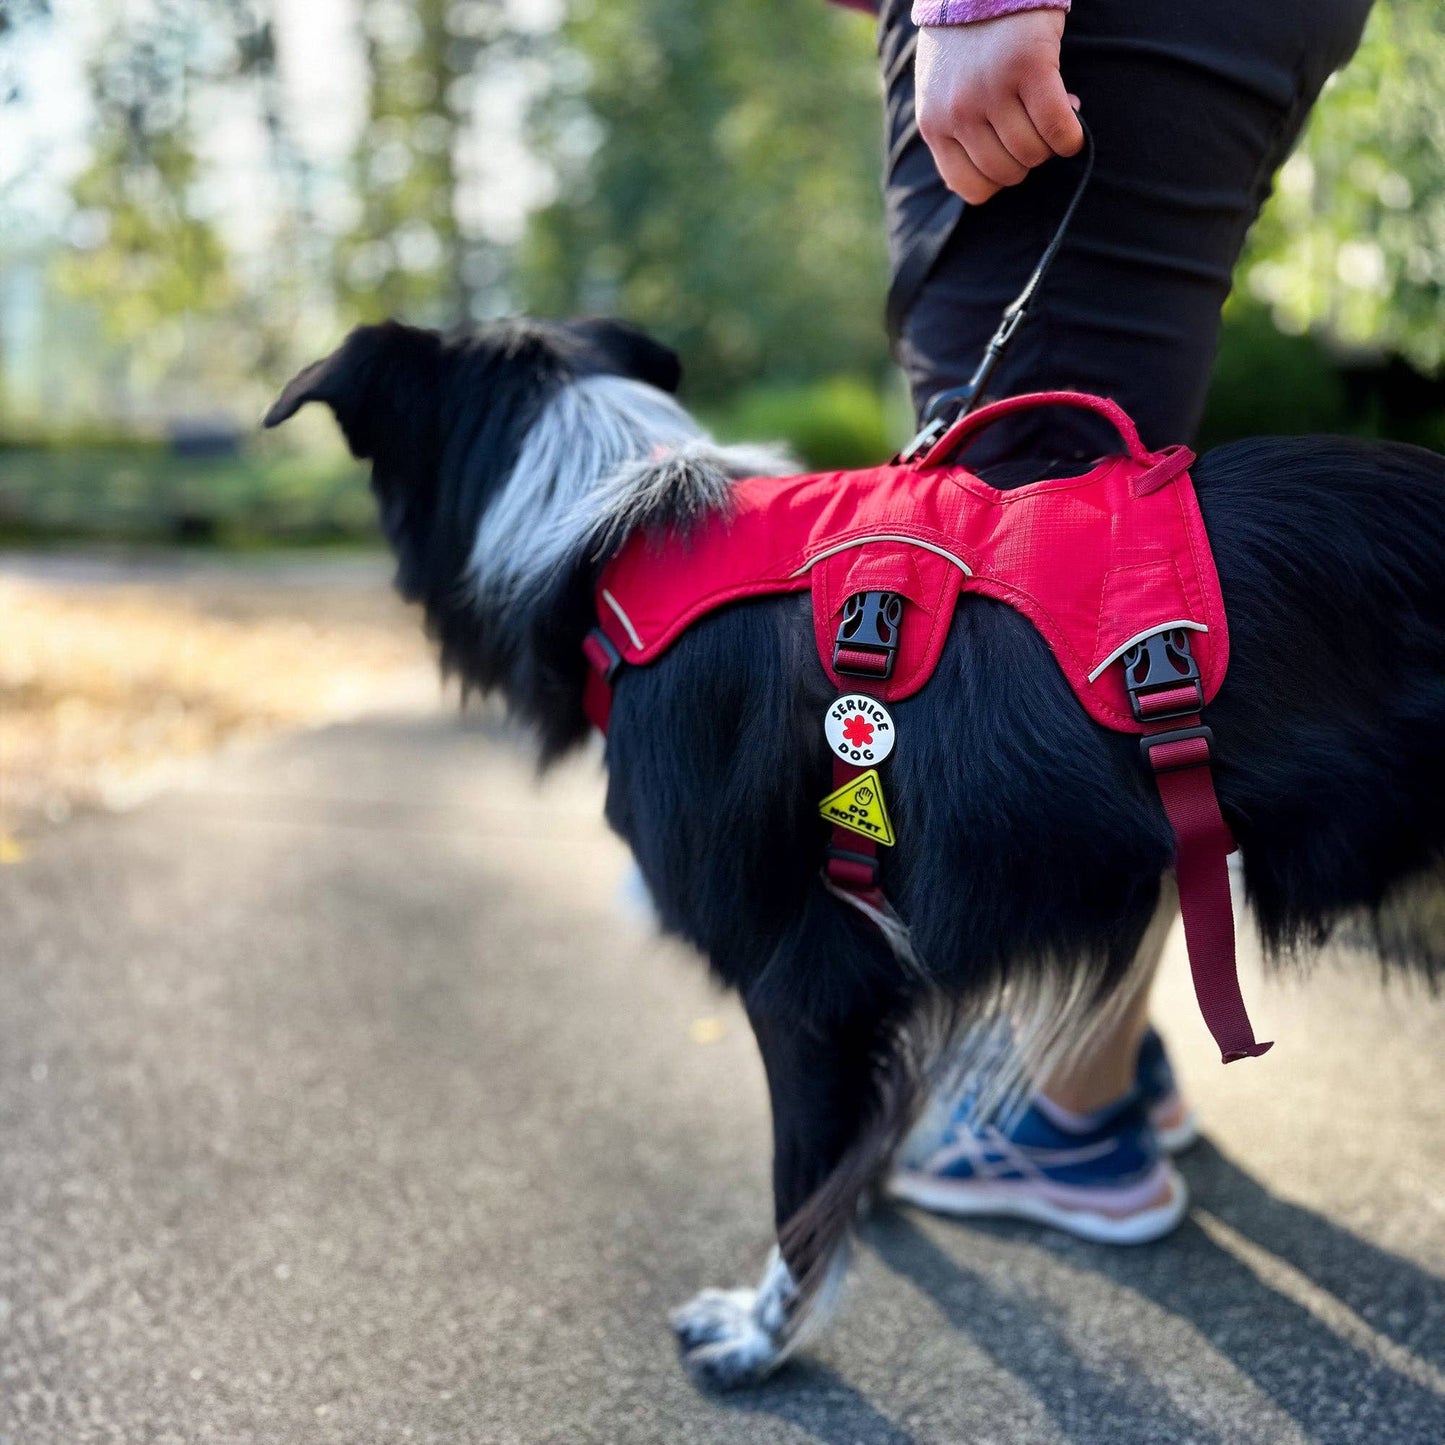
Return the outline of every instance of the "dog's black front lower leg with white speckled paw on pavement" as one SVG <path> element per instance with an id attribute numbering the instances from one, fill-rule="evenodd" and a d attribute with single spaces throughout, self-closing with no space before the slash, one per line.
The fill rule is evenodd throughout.
<path id="1" fill-rule="evenodd" d="M 880 1108 L 887 1035 L 876 1016 L 827 1027 L 749 1017 L 773 1104 L 779 1243 L 756 1289 L 707 1289 L 672 1315 L 688 1368 L 718 1389 L 760 1380 L 827 1318 L 858 1199 L 899 1131 L 884 1120 L 896 1110 Z"/>

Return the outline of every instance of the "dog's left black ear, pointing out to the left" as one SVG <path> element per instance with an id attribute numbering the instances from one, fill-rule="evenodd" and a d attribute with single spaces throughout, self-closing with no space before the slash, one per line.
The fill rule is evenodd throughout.
<path id="1" fill-rule="evenodd" d="M 357 327 L 328 357 L 298 371 L 263 418 L 280 426 L 308 402 L 325 402 L 360 461 L 376 460 L 435 409 L 441 337 L 396 321 Z M 420 405 L 416 405 L 420 403 Z"/>

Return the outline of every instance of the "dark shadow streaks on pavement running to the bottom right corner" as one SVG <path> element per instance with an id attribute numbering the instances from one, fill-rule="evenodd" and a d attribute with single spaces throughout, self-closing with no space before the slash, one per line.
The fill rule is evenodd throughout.
<path id="1" fill-rule="evenodd" d="M 1445 1394 L 1428 1370 L 1445 1351 L 1445 1280 L 1296 1204 L 1277 1199 L 1212 1144 L 1181 1162 L 1196 1209 L 1306 1276 L 1370 1329 L 1425 1363 L 1426 1377 L 1394 1368 L 1377 1350 L 1272 1287 L 1195 1220 L 1159 1246 L 1108 1248 L 1013 1222 L 971 1221 L 972 1233 L 1029 1238 L 1188 1321 L 1319 1445 L 1445 1441 Z M 1004 1295 L 954 1260 L 912 1220 L 880 1214 L 866 1241 L 909 1279 L 955 1329 L 1019 1379 L 1069 1441 L 1110 1445 L 1215 1439 L 1146 1379 L 1105 1377 L 1081 1360 L 1051 1306 Z M 1108 1422 L 1107 1425 L 1104 1422 Z"/>

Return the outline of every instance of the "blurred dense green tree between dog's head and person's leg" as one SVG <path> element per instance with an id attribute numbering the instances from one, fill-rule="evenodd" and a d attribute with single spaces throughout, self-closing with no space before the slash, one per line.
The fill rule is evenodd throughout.
<path id="1" fill-rule="evenodd" d="M 525 305 L 650 327 L 701 397 L 880 377 L 867 26 L 806 0 L 578 0 L 562 39 L 536 124 L 561 199 L 517 256 Z"/>

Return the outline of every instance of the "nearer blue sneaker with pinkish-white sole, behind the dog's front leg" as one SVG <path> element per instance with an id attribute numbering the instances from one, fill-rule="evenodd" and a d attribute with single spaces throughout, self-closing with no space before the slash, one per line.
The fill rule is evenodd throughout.
<path id="1" fill-rule="evenodd" d="M 971 1123 L 964 1100 L 887 1192 L 939 1214 L 1033 1220 L 1100 1244 L 1157 1240 L 1189 1207 L 1137 1090 L 1090 1116 L 1039 1095 L 1007 1129 Z"/>

